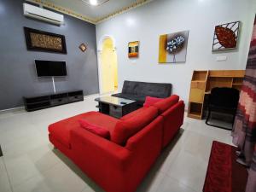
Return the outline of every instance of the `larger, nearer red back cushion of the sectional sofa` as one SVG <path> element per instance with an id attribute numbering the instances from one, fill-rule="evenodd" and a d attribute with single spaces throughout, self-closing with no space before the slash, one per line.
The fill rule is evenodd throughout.
<path id="1" fill-rule="evenodd" d="M 111 141 L 119 145 L 125 145 L 129 137 L 142 130 L 143 127 L 148 125 L 157 115 L 158 109 L 150 107 L 143 110 L 143 113 L 137 113 L 136 116 L 120 119 L 113 130 Z"/>

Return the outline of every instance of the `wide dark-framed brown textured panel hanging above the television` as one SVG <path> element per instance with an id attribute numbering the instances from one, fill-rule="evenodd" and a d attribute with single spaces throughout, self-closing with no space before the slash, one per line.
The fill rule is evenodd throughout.
<path id="1" fill-rule="evenodd" d="M 24 27 L 26 49 L 67 54 L 64 35 Z"/>

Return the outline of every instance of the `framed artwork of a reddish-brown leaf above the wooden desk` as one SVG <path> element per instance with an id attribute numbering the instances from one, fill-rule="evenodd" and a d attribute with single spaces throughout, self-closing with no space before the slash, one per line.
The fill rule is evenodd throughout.
<path id="1" fill-rule="evenodd" d="M 236 49 L 240 23 L 235 21 L 215 26 L 212 51 Z"/>

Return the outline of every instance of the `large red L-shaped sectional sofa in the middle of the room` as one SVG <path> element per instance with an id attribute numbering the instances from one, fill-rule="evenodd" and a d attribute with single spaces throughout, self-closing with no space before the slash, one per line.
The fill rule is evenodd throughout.
<path id="1" fill-rule="evenodd" d="M 89 112 L 49 125 L 49 141 L 107 192 L 132 192 L 183 125 L 184 103 L 170 96 L 121 119 Z M 110 132 L 99 137 L 79 125 L 85 119 Z"/>

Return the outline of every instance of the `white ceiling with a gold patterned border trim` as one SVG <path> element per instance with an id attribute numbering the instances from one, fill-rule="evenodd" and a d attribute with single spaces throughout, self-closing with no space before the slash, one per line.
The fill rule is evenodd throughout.
<path id="1" fill-rule="evenodd" d="M 106 20 L 113 15 L 123 13 L 127 9 L 133 9 L 137 6 L 148 3 L 152 0 L 99 0 L 98 6 L 92 6 L 89 0 L 28 0 L 33 3 L 39 3 L 51 9 L 61 12 L 68 12 L 69 15 L 79 15 L 91 23 L 97 23 Z M 105 3 L 104 3 L 105 2 Z M 65 10 L 65 11 L 64 11 Z"/>

